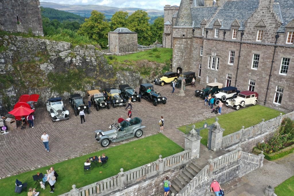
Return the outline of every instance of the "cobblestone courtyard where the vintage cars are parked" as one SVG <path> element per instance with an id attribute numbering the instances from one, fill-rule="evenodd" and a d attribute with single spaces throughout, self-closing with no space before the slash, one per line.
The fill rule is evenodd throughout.
<path id="1" fill-rule="evenodd" d="M 154 89 L 167 97 L 167 104 L 158 104 L 156 107 L 151 102 L 141 100 L 133 104 L 132 117 L 142 119 L 143 136 L 146 137 L 159 132 L 158 120 L 163 115 L 165 119 L 164 129 L 172 129 L 181 125 L 194 123 L 203 119 L 216 117 L 208 106 L 204 106 L 204 100 L 194 96 L 194 91 L 200 89 L 200 85 L 191 88 L 186 86 L 185 96 L 178 96 L 179 89 L 171 93 L 172 87 L 155 85 Z M 136 88 L 138 91 L 138 87 Z M 73 109 L 64 100 L 66 108 L 70 112 L 69 120 L 52 122 L 46 107 L 36 109 L 34 128 L 9 131 L 7 135 L 0 135 L 0 177 L 19 174 L 38 167 L 44 167 L 63 160 L 78 157 L 84 154 L 96 152 L 103 147 L 94 139 L 95 130 L 107 130 L 108 126 L 119 117 L 127 118 L 125 107 L 111 107 L 98 112 L 91 107 L 90 114 L 85 115 L 86 123 L 81 125 L 80 117 L 75 116 Z M 223 107 L 222 113 L 229 113 L 233 109 Z M 46 131 L 49 136 L 50 152 L 45 151 L 41 141 L 41 135 Z M 175 134 L 178 134 L 175 132 Z M 111 143 L 109 147 L 130 142 Z"/>

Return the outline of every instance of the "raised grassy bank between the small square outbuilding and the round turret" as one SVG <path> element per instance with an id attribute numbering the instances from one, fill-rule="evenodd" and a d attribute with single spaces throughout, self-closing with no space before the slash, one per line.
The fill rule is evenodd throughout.
<path id="1" fill-rule="evenodd" d="M 148 60 L 148 61 L 156 61 L 158 63 L 165 63 L 166 61 L 170 61 L 173 58 L 173 49 L 171 48 L 156 48 L 142 51 L 138 53 L 123 55 L 123 56 L 115 56 L 119 62 L 123 62 L 125 60 L 128 61 L 138 61 L 138 60 Z"/>

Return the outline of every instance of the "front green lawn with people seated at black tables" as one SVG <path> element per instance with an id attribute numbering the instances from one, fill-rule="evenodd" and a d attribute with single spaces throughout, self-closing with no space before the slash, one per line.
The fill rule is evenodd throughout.
<path id="1" fill-rule="evenodd" d="M 54 195 L 60 195 L 70 191 L 73 184 L 75 184 L 77 188 L 80 188 L 116 175 L 120 172 L 120 168 L 123 168 L 124 171 L 128 171 L 157 160 L 158 155 L 162 155 L 164 158 L 181 151 L 183 151 L 183 148 L 159 133 L 95 153 L 83 155 L 78 158 L 66 160 L 61 163 L 56 163 L 52 165 L 59 175 L 58 181 L 55 184 Z M 91 173 L 84 174 L 83 164 L 86 159 L 93 155 L 99 156 L 102 153 L 105 153 L 106 156 L 109 157 L 106 163 L 108 166 L 103 168 L 92 165 L 93 168 Z M 15 179 L 19 179 L 23 183 L 28 182 L 27 190 L 29 190 L 29 187 L 35 188 L 36 185 L 34 185 L 35 182 L 32 176 L 37 172 L 45 174 L 46 169 L 50 167 L 51 165 L 0 180 L 1 195 L 27 195 L 27 192 L 24 191 L 21 192 L 21 194 L 14 193 Z M 49 185 L 46 185 L 45 190 L 41 189 L 39 186 L 37 191 L 40 192 L 40 195 L 52 195 L 49 192 Z"/>

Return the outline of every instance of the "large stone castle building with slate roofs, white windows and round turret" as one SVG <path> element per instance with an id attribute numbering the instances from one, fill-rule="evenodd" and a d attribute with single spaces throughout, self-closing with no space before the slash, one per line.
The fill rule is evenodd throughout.
<path id="1" fill-rule="evenodd" d="M 195 71 L 202 85 L 294 110 L 293 10 L 289 0 L 181 0 L 164 7 L 163 46 L 173 48 L 173 70 Z"/>

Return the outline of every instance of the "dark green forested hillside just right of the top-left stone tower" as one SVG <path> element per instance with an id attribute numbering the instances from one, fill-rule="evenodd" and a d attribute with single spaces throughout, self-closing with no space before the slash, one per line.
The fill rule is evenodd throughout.
<path id="1" fill-rule="evenodd" d="M 79 16 L 77 14 L 73 14 L 66 11 L 60 11 L 53 8 L 41 7 L 41 15 L 42 17 L 47 17 L 50 20 L 56 19 L 60 22 L 64 20 L 68 21 L 78 21 L 80 24 L 85 21 L 85 17 Z"/>

